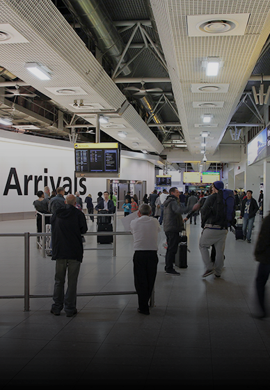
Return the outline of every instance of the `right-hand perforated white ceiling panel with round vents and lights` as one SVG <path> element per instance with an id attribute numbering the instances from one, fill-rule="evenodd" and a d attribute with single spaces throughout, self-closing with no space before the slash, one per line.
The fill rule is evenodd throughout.
<path id="1" fill-rule="evenodd" d="M 213 155 L 269 36 L 270 0 L 150 2 L 189 152 L 195 156 L 198 151 L 202 115 L 212 114 L 206 152 Z M 205 74 L 207 57 L 223 63 L 216 77 Z M 223 107 L 200 107 L 204 102 L 222 102 Z"/>

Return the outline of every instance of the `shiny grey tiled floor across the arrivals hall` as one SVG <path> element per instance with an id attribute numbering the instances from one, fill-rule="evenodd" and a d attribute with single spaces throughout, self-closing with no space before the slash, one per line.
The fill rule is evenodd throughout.
<path id="1" fill-rule="evenodd" d="M 89 231 L 95 224 L 89 222 Z M 51 297 L 0 299 L 1 388 L 13 385 L 114 385 L 118 389 L 205 385 L 208 389 L 269 389 L 270 319 L 257 320 L 254 242 L 228 233 L 221 279 L 202 279 L 200 223 L 187 224 L 189 267 L 164 274 L 160 234 L 155 307 L 137 313 L 136 295 L 78 297 L 78 315 L 49 313 Z M 123 231 L 120 218 L 118 231 Z M 35 221 L 4 221 L 0 233 L 34 232 Z M 0 237 L 0 295 L 24 293 L 24 247 L 20 237 Z M 85 251 L 78 292 L 133 291 L 132 235 L 119 235 L 111 250 Z M 86 237 L 86 247 L 97 247 Z M 102 246 L 104 247 L 104 246 Z M 99 248 L 102 248 L 99 246 Z M 31 294 L 51 295 L 54 262 L 42 258 L 31 239 Z M 269 292 L 267 292 L 269 297 Z"/>

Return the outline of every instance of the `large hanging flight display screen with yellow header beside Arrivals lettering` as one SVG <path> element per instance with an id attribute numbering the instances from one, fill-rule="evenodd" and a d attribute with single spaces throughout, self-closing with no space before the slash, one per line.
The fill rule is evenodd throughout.
<path id="1" fill-rule="evenodd" d="M 74 149 L 75 172 L 119 173 L 118 143 L 75 143 Z"/>

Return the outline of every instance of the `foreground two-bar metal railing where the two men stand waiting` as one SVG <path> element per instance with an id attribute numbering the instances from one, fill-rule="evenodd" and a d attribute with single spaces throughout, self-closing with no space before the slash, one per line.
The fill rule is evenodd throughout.
<path id="1" fill-rule="evenodd" d="M 109 215 L 109 214 L 106 214 Z M 127 231 L 112 231 L 112 232 L 89 232 L 85 235 L 131 235 Z M 30 298 L 47 298 L 52 297 L 52 294 L 30 294 L 30 237 L 46 237 L 51 236 L 51 233 L 0 233 L 0 237 L 24 237 L 24 295 L 2 295 L 0 299 L 15 299 L 24 298 L 24 311 L 30 311 Z M 77 293 L 77 297 L 88 297 L 97 295 L 136 295 L 136 291 L 115 291 L 115 292 L 82 292 Z M 154 306 L 154 289 L 150 298 L 150 306 Z"/>

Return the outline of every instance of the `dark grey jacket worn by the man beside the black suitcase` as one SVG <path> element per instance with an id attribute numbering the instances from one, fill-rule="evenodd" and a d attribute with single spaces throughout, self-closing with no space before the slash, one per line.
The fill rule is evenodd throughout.
<path id="1" fill-rule="evenodd" d="M 184 231 L 184 222 L 182 219 L 182 208 L 178 199 L 174 195 L 169 195 L 164 201 L 164 232 Z"/>

